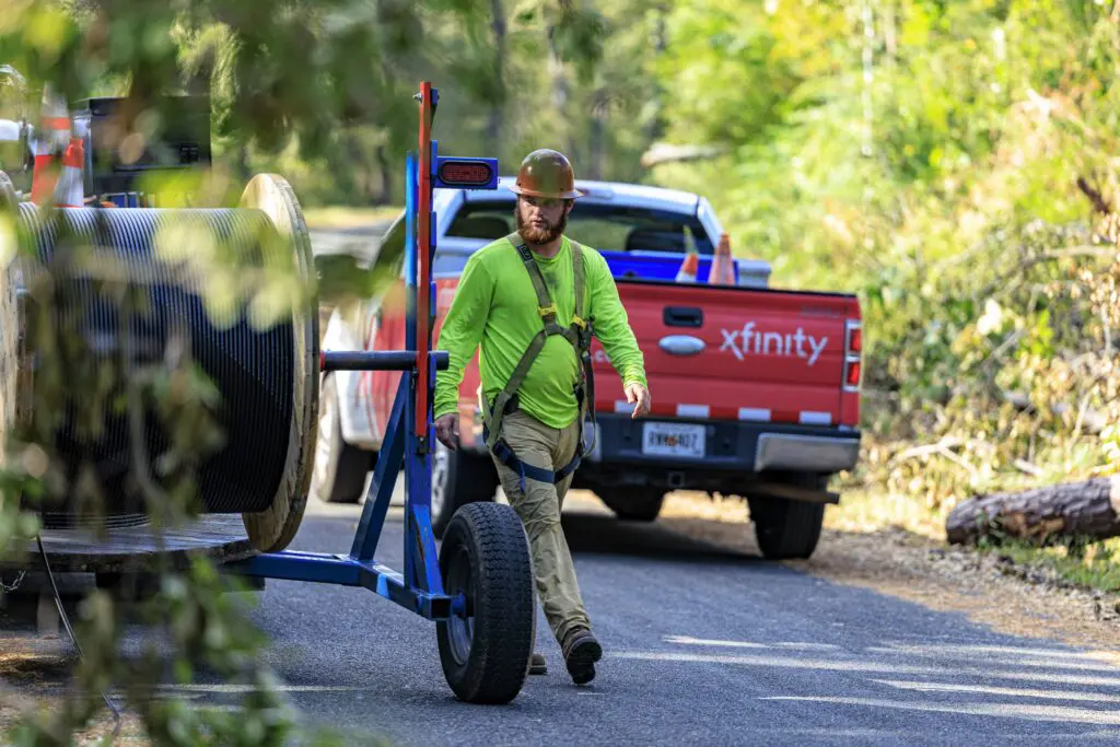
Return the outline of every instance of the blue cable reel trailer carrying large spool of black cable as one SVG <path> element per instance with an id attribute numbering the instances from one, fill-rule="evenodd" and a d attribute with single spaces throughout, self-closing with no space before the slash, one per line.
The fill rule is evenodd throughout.
<path id="1" fill-rule="evenodd" d="M 363 587 L 436 623 L 444 673 L 459 699 L 504 703 L 524 684 L 533 642 L 533 577 L 521 521 L 508 505 L 466 505 L 454 516 L 438 551 L 431 526 L 435 375 L 448 364 L 446 353 L 431 348 L 432 192 L 497 187 L 496 159 L 438 155 L 432 139 L 438 96 L 430 83 L 421 83 L 416 95 L 418 148 L 405 162 L 407 349 L 375 352 L 319 349 L 317 301 L 297 305 L 290 316 L 264 329 L 243 319 L 216 325 L 207 316 L 199 278 L 185 277 L 183 268 L 160 260 L 153 236 L 168 224 L 200 226 L 256 246 L 262 263 L 287 263 L 310 281 L 315 272 L 310 237 L 295 193 L 279 176 L 258 175 L 246 185 L 237 208 L 153 206 L 156 196 L 128 192 L 128 175 L 122 177 L 124 169 L 118 164 L 95 158 L 95 138 L 90 133 L 95 136 L 99 122 L 111 115 L 113 102 L 91 102 L 83 125 L 91 143 L 86 186 L 99 172 L 108 176 L 93 192 L 105 185 L 123 189 L 99 195 L 97 206 L 60 207 L 49 214 L 20 202 L 10 187 L 0 199 L 13 214 L 24 255 L 0 274 L 0 342 L 8 362 L 0 366 L 0 396 L 6 403 L 0 410 L 0 437 L 26 422 L 34 399 L 36 337 L 27 328 L 32 302 L 27 283 L 35 265 L 66 251 L 60 235 L 76 235 L 119 262 L 131 284 L 144 283 L 150 306 L 149 316 L 142 323 L 131 321 L 130 334 L 122 336 L 119 315 L 97 301 L 90 282 L 80 278 L 68 283 L 66 290 L 75 301 L 71 306 L 80 308 L 85 320 L 80 327 L 90 343 L 85 354 L 156 360 L 166 354 L 171 330 L 181 334 L 186 320 L 192 356 L 221 393 L 226 438 L 199 470 L 204 503 L 199 521 L 157 536 L 142 506 L 114 498 L 118 494 L 111 489 L 136 467 L 129 428 L 110 412 L 95 441 L 76 438 L 72 423 L 60 426 L 65 432 L 59 442 L 72 447 L 69 456 L 75 460 L 92 456 L 101 466 L 99 478 L 110 496 L 104 506 L 109 531 L 100 539 L 83 532 L 76 513 L 66 508 L 44 514 L 44 562 L 49 554 L 55 568 L 112 577 L 156 552 L 184 558 L 202 552 L 222 562 L 224 571 L 249 579 Z M 208 111 L 208 102 L 203 105 Z M 170 160 L 180 167 L 205 164 L 208 131 L 205 138 L 189 133 L 171 138 L 170 152 Z M 116 209 L 103 207 L 106 204 Z M 37 261 L 28 264 L 27 256 Z M 319 377 L 338 370 L 399 371 L 400 383 L 349 553 L 296 552 L 287 547 L 307 504 Z M 149 450 L 167 441 L 155 426 L 142 438 Z M 393 570 L 375 557 L 401 473 L 404 568 Z"/>

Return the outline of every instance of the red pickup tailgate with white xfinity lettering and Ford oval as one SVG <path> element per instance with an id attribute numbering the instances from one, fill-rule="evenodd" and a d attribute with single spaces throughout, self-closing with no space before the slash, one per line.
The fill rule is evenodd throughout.
<path id="1" fill-rule="evenodd" d="M 836 426 L 853 296 L 618 280 L 653 414 Z M 629 412 L 601 345 L 596 409 Z"/>

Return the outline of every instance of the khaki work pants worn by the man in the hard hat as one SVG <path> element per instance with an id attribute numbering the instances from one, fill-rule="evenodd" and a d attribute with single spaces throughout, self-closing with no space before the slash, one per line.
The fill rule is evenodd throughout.
<path id="1" fill-rule="evenodd" d="M 579 420 L 558 430 L 521 410 L 514 410 L 502 418 L 502 437 L 526 465 L 554 471 L 571 461 L 576 455 L 579 446 Z M 560 508 L 572 476 L 568 475 L 554 485 L 526 477 L 525 489 L 522 492 L 517 473 L 496 458 L 494 465 L 502 480 L 502 489 L 505 491 L 510 505 L 521 516 L 529 535 L 536 592 L 544 617 L 557 642 L 563 645 L 564 636 L 573 627 L 591 627 L 576 582 L 576 566 L 560 526 Z"/>

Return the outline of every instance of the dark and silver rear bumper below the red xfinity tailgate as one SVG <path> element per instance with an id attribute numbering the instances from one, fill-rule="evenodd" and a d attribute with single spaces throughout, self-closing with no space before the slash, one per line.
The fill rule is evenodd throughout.
<path id="1" fill-rule="evenodd" d="M 680 423 L 704 431 L 703 456 L 648 454 L 647 422 Z M 647 484 L 668 488 L 728 489 L 727 483 L 763 473 L 828 475 L 851 469 L 859 459 L 856 429 L 811 426 L 598 417 L 595 448 L 576 473 L 578 483 Z M 633 469 L 637 467 L 638 469 Z"/>

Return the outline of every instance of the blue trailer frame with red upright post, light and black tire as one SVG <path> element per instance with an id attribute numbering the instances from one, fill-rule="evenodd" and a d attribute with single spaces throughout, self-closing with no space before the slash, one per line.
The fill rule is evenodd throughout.
<path id="1" fill-rule="evenodd" d="M 222 570 L 255 579 L 370 589 L 436 622 L 440 662 L 458 698 L 507 703 L 524 683 L 534 639 L 534 585 L 524 526 L 508 505 L 465 505 L 452 516 L 437 551 L 431 524 L 432 400 L 436 372 L 449 363 L 447 353 L 431 347 L 436 323 L 433 190 L 496 189 L 497 159 L 438 156 L 438 143 L 431 138 L 438 91 L 423 82 L 416 99 L 419 148 L 407 155 L 404 168 L 405 349 L 319 354 L 320 372 L 401 372 L 351 550 L 346 554 L 265 552 L 227 562 Z M 151 195 L 140 193 L 120 193 L 109 199 L 124 208 L 153 204 Z M 375 555 L 401 471 L 404 568 L 398 571 L 376 562 Z"/>

